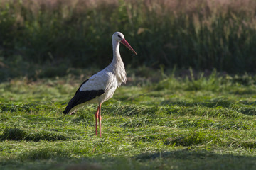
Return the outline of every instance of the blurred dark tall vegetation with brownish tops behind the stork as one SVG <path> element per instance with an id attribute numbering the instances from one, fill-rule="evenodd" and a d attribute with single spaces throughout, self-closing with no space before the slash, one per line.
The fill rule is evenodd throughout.
<path id="1" fill-rule="evenodd" d="M 253 73 L 255 16 L 255 0 L 0 0 L 0 81 L 102 69 L 115 31 L 130 68 Z"/>

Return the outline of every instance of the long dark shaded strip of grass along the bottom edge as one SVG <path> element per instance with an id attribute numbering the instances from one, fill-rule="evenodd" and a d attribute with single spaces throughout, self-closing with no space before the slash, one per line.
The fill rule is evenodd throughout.
<path id="1" fill-rule="evenodd" d="M 72 157 L 65 149 L 36 149 L 18 155 L 23 162 L 43 162 L 56 160 L 48 164 L 48 168 L 62 166 L 63 169 L 255 169 L 256 159 L 234 154 L 217 154 L 206 150 L 191 151 L 188 149 L 171 152 L 154 152 L 138 154 L 134 157 Z M 57 162 L 57 163 L 56 163 Z M 17 163 L 16 163 L 17 164 Z M 33 164 L 32 164 L 33 165 Z M 25 165 L 26 166 L 26 165 Z M 29 165 L 26 167 L 28 168 Z M 31 166 L 31 164 L 30 164 Z M 45 168 L 41 164 L 38 168 Z"/>

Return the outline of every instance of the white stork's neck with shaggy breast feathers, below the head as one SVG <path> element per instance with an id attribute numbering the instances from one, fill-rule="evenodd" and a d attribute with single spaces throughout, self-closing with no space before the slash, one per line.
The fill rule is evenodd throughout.
<path id="1" fill-rule="evenodd" d="M 117 79 L 119 79 L 120 82 L 126 83 L 127 76 L 124 69 L 124 62 L 122 61 L 122 58 L 119 52 L 120 42 L 112 39 L 112 45 L 113 45 L 113 60 L 110 64 L 110 68 L 112 69 L 112 72 L 116 74 Z"/>

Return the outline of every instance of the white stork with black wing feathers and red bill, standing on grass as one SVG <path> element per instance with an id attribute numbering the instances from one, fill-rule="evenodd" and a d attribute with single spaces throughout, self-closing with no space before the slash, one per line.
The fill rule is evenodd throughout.
<path id="1" fill-rule="evenodd" d="M 112 62 L 105 69 L 102 69 L 102 71 L 97 72 L 97 74 L 94 74 L 92 77 L 85 80 L 75 92 L 75 96 L 70 100 L 68 106 L 65 108 L 65 111 L 63 111 L 64 114 L 72 115 L 78 108 L 81 108 L 86 104 L 99 104 L 95 113 L 95 133 L 97 136 L 97 120 L 99 119 L 100 137 L 101 105 L 104 101 L 112 98 L 117 87 L 119 87 L 122 83 L 127 82 L 127 74 L 124 69 L 124 62 L 122 62 L 122 58 L 119 53 L 120 42 L 137 55 L 137 53 L 132 49 L 131 45 L 129 45 L 129 43 L 124 39 L 124 35 L 122 33 L 114 33 L 112 35 Z"/>

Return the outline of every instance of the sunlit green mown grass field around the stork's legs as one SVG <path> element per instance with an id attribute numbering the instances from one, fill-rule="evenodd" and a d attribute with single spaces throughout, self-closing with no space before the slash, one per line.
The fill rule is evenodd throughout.
<path id="1" fill-rule="evenodd" d="M 0 84 L 0 169 L 256 168 L 256 77 L 129 74 L 102 106 L 102 138 L 97 106 L 62 114 L 83 79 Z"/>

